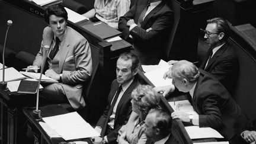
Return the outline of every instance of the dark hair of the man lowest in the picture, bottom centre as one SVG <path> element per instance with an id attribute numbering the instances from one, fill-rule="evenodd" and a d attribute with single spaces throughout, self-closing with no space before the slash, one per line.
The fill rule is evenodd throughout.
<path id="1" fill-rule="evenodd" d="M 171 133 L 172 118 L 171 114 L 162 108 L 153 108 L 148 114 L 155 114 L 153 128 L 160 130 L 160 135 L 167 136 Z"/>

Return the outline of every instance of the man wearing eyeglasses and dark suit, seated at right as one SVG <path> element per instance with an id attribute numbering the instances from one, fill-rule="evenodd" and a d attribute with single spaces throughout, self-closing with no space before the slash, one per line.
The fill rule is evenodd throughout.
<path id="1" fill-rule="evenodd" d="M 201 66 L 199 68 L 211 73 L 228 89 L 231 95 L 236 82 L 238 73 L 238 56 L 235 49 L 226 42 L 229 37 L 229 24 L 223 18 L 212 18 L 207 20 L 207 26 L 204 32 L 204 39 L 209 44 L 208 50 Z M 177 60 L 170 60 L 169 65 Z"/>

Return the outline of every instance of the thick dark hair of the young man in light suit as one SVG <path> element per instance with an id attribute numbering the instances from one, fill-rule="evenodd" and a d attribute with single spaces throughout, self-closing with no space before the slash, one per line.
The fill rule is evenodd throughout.
<path id="1" fill-rule="evenodd" d="M 44 20 L 46 23 L 49 24 L 49 17 L 50 15 L 56 15 L 57 17 L 63 17 L 66 21 L 68 21 L 68 12 L 63 7 L 63 5 L 56 4 L 56 5 L 50 5 L 47 7 L 45 14 L 44 14 Z"/>

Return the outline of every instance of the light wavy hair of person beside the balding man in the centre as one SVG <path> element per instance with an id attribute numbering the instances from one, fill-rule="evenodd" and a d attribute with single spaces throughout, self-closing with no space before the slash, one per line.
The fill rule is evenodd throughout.
<path id="1" fill-rule="evenodd" d="M 145 114 L 148 114 L 151 108 L 159 107 L 160 96 L 150 85 L 138 85 L 133 89 L 131 97 L 135 106 Z"/>

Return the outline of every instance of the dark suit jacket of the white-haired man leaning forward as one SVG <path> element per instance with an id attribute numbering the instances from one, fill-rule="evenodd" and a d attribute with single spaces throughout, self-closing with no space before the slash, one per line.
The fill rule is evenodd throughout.
<path id="1" fill-rule="evenodd" d="M 247 119 L 229 92 L 212 75 L 200 69 L 192 98 L 200 127 L 212 127 L 230 140 L 244 129 Z"/>

